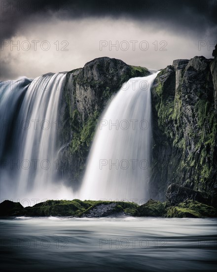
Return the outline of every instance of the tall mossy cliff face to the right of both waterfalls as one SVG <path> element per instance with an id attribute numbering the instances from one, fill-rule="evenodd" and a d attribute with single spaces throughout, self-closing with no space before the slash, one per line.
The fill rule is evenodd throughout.
<path id="1" fill-rule="evenodd" d="M 175 60 L 152 87 L 152 197 L 175 182 L 217 194 L 217 59 Z"/>

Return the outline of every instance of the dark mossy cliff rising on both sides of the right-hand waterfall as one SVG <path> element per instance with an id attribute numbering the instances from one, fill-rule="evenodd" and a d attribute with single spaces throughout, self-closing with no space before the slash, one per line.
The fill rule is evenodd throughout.
<path id="1" fill-rule="evenodd" d="M 67 73 L 60 111 L 60 174 L 79 186 L 97 121 L 109 99 L 146 68 L 102 57 Z M 217 58 L 175 60 L 152 87 L 151 197 L 169 184 L 217 192 Z"/>

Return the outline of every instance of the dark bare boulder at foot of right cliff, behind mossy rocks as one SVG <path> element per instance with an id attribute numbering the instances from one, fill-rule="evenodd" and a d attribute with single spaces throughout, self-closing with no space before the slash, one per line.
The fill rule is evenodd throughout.
<path id="1" fill-rule="evenodd" d="M 185 200 L 195 200 L 207 205 L 211 205 L 211 196 L 206 192 L 195 191 L 187 187 L 172 183 L 166 191 L 167 202 L 175 206 Z"/>

